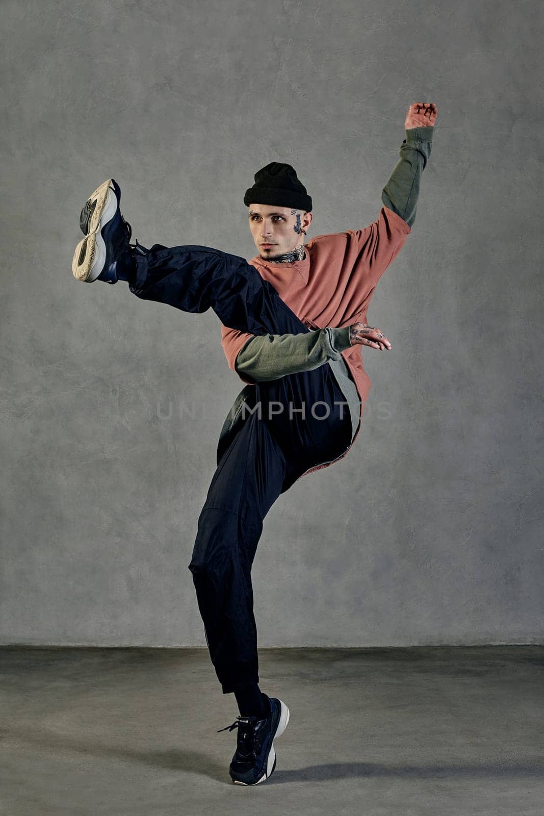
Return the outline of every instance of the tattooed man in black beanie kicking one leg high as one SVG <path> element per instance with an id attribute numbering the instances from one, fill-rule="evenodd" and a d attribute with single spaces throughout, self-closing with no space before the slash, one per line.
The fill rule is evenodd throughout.
<path id="1" fill-rule="evenodd" d="M 137 297 L 185 312 L 212 308 L 228 365 L 246 384 L 220 433 L 188 565 L 211 661 L 223 694 L 233 692 L 240 710 L 227 726 L 238 728 L 234 783 L 272 774 L 272 741 L 290 716 L 285 703 L 259 689 L 250 572 L 263 519 L 294 481 L 342 459 L 359 432 L 370 380 L 357 347 L 391 348 L 366 312 L 414 224 L 436 114 L 433 103 L 409 106 L 384 206 L 364 229 L 305 244 L 312 198 L 290 165 L 263 167 L 244 197 L 259 250 L 249 262 L 206 246 L 129 244 L 113 179 L 82 209 L 74 277 L 126 281 Z"/>

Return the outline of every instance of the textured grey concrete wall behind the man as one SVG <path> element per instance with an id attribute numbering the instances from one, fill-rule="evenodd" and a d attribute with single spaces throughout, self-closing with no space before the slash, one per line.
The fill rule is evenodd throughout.
<path id="1" fill-rule="evenodd" d="M 206 645 L 187 567 L 242 384 L 215 313 L 74 280 L 86 197 L 113 175 L 133 240 L 250 258 L 243 193 L 285 161 L 308 238 L 360 228 L 433 101 L 417 219 L 369 309 L 392 351 L 363 352 L 356 446 L 265 521 L 259 645 L 542 642 L 542 2 L 2 18 L 0 641 Z"/>

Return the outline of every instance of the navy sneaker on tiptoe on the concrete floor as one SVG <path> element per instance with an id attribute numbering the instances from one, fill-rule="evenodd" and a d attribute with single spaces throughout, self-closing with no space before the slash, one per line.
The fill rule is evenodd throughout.
<path id="1" fill-rule="evenodd" d="M 237 750 L 228 769 L 235 785 L 258 785 L 268 779 L 276 768 L 276 752 L 272 743 L 285 731 L 289 722 L 289 708 L 276 697 L 263 696 L 270 703 L 268 717 L 258 720 L 256 716 L 238 716 L 232 725 L 219 729 L 238 729 Z"/>

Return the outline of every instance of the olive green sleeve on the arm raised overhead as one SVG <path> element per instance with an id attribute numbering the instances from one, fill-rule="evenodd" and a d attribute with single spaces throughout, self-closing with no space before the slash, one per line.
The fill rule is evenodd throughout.
<path id="1" fill-rule="evenodd" d="M 434 130 L 433 126 L 428 125 L 410 127 L 405 131 L 406 138 L 400 145 L 400 159 L 383 188 L 383 203 L 400 215 L 409 227 L 415 221 L 421 176 L 431 155 Z"/>

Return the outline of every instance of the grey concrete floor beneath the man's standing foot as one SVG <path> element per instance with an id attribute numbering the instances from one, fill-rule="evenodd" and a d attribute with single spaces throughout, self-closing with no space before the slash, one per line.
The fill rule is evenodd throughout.
<path id="1" fill-rule="evenodd" d="M 272 777 L 241 787 L 207 650 L 0 647 L 0 814 L 544 814 L 544 646 L 259 663 L 290 723 Z"/>

